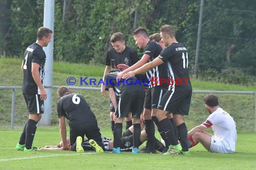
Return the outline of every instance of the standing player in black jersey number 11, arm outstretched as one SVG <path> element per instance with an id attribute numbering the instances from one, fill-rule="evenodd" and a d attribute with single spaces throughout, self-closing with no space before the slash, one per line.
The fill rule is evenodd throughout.
<path id="1" fill-rule="evenodd" d="M 167 71 L 169 72 L 169 77 L 167 80 L 162 80 L 168 82 L 168 91 L 163 95 L 156 114 L 159 126 L 163 127 L 164 133 L 171 143 L 168 152 L 163 154 L 173 155 L 182 153 L 189 155 L 190 153 L 186 139 L 187 127 L 183 119 L 183 115 L 189 114 L 192 95 L 192 85 L 190 83 L 188 69 L 188 52 L 183 44 L 177 42 L 175 38 L 175 30 L 172 26 L 162 26 L 160 28 L 160 35 L 165 46 L 160 55 L 141 68 L 138 68 L 133 72 L 128 72 L 124 75 L 124 78 L 146 72 L 163 63 L 168 64 Z M 166 116 L 169 113 L 173 114 L 178 131 L 178 139 L 181 142 L 181 145 L 178 144 L 178 139 L 174 134 L 172 123 Z"/>

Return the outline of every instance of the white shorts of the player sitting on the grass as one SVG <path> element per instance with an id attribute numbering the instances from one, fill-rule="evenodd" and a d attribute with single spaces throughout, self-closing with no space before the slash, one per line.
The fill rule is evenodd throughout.
<path id="1" fill-rule="evenodd" d="M 211 137 L 211 145 L 209 152 L 213 153 L 232 153 L 225 148 L 225 144 L 222 143 L 221 140 L 215 138 L 215 136 Z"/>

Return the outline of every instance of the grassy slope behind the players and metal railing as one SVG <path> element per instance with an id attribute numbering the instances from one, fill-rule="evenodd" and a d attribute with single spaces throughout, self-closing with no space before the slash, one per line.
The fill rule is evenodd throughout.
<path id="1" fill-rule="evenodd" d="M 21 59 L 0 58 L 0 86 L 21 86 L 22 71 L 20 69 Z M 70 76 L 78 81 L 80 77 L 102 78 L 105 66 L 91 66 L 85 64 L 53 63 L 53 85 L 67 85 L 66 79 Z M 227 85 L 213 81 L 200 81 L 191 79 L 194 90 L 235 90 L 235 91 L 256 91 L 255 86 Z M 88 85 L 82 85 L 88 86 Z M 99 85 L 92 85 L 100 87 Z M 110 127 L 109 121 L 109 98 L 103 98 L 100 91 L 96 90 L 73 90 L 74 93 L 81 93 L 85 96 L 91 109 L 95 113 L 99 125 Z M 202 123 L 208 116 L 203 104 L 205 94 L 193 93 L 190 114 L 185 116 L 188 129 Z M 224 110 L 229 112 L 237 123 L 238 132 L 254 131 L 254 96 L 242 94 L 217 94 L 219 103 Z M 53 89 L 52 124 L 57 124 L 57 93 Z M 11 120 L 12 90 L 0 90 L 0 127 L 10 128 Z M 22 90 L 16 91 L 15 102 L 15 128 L 23 126 L 28 115 L 23 99 Z"/>

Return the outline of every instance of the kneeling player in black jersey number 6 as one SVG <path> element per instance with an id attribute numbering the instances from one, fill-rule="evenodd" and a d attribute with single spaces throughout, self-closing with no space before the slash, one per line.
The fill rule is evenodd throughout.
<path id="1" fill-rule="evenodd" d="M 57 113 L 60 125 L 60 134 L 63 141 L 63 150 L 69 150 L 66 143 L 65 118 L 69 120 L 70 146 L 71 150 L 81 149 L 84 135 L 91 140 L 99 152 L 103 153 L 104 144 L 102 134 L 97 124 L 97 120 L 86 100 L 81 94 L 71 93 L 71 90 L 61 86 L 57 90 L 59 101 L 57 102 Z M 79 140 L 79 141 L 78 141 Z M 76 142 L 76 143 L 75 143 Z M 76 146 L 73 146 L 73 145 Z M 83 150 L 79 150 L 83 152 Z"/>

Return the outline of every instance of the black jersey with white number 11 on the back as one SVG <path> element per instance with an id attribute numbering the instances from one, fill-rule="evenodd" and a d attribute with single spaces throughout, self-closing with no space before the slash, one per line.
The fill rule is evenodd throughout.
<path id="1" fill-rule="evenodd" d="M 168 90 L 192 90 L 188 69 L 188 52 L 181 43 L 165 47 L 159 58 L 168 64 L 169 78 L 172 82 Z"/>

